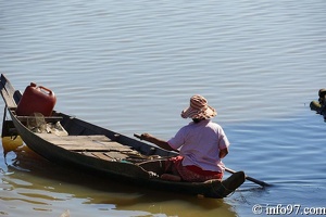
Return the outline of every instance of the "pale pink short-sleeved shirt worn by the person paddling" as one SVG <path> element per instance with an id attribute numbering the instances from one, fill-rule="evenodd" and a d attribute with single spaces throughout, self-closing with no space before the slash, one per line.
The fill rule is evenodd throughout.
<path id="1" fill-rule="evenodd" d="M 211 119 L 197 124 L 191 122 L 167 142 L 175 150 L 180 148 L 179 155 L 185 157 L 184 166 L 196 165 L 203 170 L 221 173 L 224 170 L 218 155 L 220 150 L 229 146 L 229 141 L 222 127 Z"/>

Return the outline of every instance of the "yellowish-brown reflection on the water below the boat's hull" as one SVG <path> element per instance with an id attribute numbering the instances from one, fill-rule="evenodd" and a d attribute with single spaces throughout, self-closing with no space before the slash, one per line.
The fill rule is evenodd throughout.
<path id="1" fill-rule="evenodd" d="M 122 216 L 160 216 L 164 213 L 188 217 L 200 216 L 202 210 L 208 216 L 216 216 L 216 212 L 217 216 L 236 216 L 223 200 L 138 189 L 54 165 L 23 145 L 20 138 L 3 138 L 2 146 L 7 168 L 1 169 L 0 213 L 5 215 L 26 208 L 30 216 L 42 212 L 59 216 L 65 209 L 70 209 L 71 216 L 87 216 L 85 210 L 78 210 L 80 207 L 71 206 L 76 203 L 88 209 L 89 215 L 93 210 L 97 216 L 120 213 Z"/>

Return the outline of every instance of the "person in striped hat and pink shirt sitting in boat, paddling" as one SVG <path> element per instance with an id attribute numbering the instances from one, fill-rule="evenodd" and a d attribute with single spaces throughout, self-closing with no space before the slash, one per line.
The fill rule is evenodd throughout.
<path id="1" fill-rule="evenodd" d="M 192 122 L 181 127 L 175 137 L 164 141 L 150 133 L 140 136 L 140 139 L 162 149 L 179 150 L 178 156 L 165 161 L 162 179 L 191 182 L 222 179 L 222 158 L 228 154 L 230 143 L 223 128 L 211 120 L 216 115 L 208 100 L 196 94 L 190 98 L 190 106 L 181 112 L 183 118 L 191 118 Z"/>

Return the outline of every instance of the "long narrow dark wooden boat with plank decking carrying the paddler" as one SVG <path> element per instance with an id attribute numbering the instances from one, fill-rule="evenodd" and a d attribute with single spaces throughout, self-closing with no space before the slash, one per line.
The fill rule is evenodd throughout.
<path id="1" fill-rule="evenodd" d="M 18 135 L 29 149 L 55 164 L 77 167 L 84 171 L 146 188 L 215 199 L 227 196 L 246 179 L 244 174 L 238 171 L 223 181 L 163 180 L 160 178 L 162 173 L 160 165 L 164 164 L 167 157 L 176 156 L 177 153 L 162 150 L 57 111 L 46 117 L 18 116 L 15 111 L 22 93 L 13 88 L 3 74 L 0 89 L 5 102 L 2 136 Z M 7 113 L 9 113 L 10 119 L 5 118 Z M 41 119 L 47 126 L 59 125 L 59 128 L 62 127 L 62 129 L 36 131 L 35 126 L 30 128 L 29 125 L 37 123 L 38 119 Z"/>

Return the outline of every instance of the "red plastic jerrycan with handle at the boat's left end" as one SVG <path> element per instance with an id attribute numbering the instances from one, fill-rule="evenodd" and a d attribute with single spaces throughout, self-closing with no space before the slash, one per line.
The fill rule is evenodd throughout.
<path id="1" fill-rule="evenodd" d="M 16 114 L 30 116 L 34 113 L 41 113 L 43 116 L 51 116 L 55 102 L 57 98 L 53 91 L 30 82 L 17 104 Z"/>

